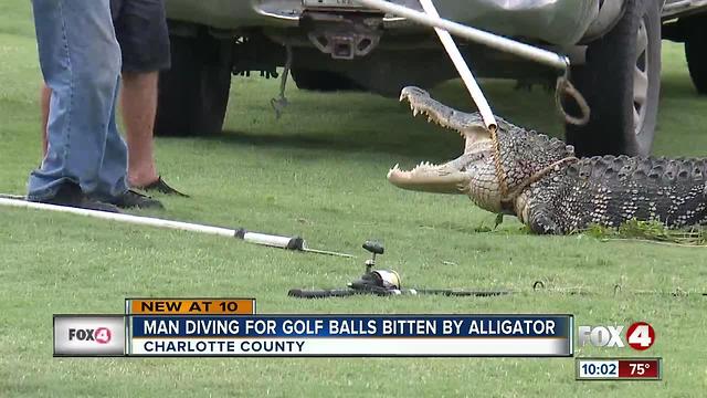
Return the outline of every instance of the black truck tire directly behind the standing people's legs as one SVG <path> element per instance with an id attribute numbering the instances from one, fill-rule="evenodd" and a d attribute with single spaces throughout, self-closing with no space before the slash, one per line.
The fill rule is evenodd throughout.
<path id="1" fill-rule="evenodd" d="M 170 36 L 171 69 L 159 76 L 155 135 L 221 132 L 231 88 L 232 43 L 205 32 Z"/>

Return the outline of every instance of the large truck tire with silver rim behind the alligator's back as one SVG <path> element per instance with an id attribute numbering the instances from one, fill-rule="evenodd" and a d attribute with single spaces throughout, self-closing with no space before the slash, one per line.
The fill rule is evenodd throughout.
<path id="1" fill-rule="evenodd" d="M 661 4 L 627 0 L 611 32 L 588 45 L 587 63 L 572 67 L 591 108 L 587 125 L 566 126 L 578 155 L 650 154 L 661 90 Z"/>

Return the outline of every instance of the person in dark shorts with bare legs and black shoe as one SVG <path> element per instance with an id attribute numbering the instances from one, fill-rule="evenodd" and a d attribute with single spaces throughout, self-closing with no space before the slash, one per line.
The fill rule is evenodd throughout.
<path id="1" fill-rule="evenodd" d="M 122 51 L 120 105 L 128 146 L 128 185 L 187 197 L 165 182 L 154 158 L 158 77 L 171 63 L 163 0 L 110 0 L 110 12 Z M 50 95 L 45 86 L 41 103 L 51 103 Z M 44 126 L 48 113 L 45 105 Z"/>

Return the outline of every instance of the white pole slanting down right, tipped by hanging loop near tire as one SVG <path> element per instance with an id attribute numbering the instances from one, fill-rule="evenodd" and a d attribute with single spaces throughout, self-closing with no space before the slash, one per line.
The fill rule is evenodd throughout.
<path id="1" fill-rule="evenodd" d="M 430 15 L 404 6 L 393 4 L 384 0 L 357 0 L 357 2 L 363 6 L 368 6 L 372 9 L 378 9 L 395 15 L 404 17 L 411 21 L 415 21 L 426 27 L 443 29 L 456 36 L 482 43 L 493 49 L 508 52 L 530 61 L 539 62 L 560 71 L 567 71 L 570 64 L 567 56 L 556 54 L 551 51 L 538 49 L 511 39 L 488 33 L 475 28 L 466 27 L 457 22 L 449 21 L 440 18 L 439 15 Z"/>

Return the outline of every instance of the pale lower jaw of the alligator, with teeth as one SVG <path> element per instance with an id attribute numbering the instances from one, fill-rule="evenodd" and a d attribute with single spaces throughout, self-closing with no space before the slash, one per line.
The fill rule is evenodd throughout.
<path id="1" fill-rule="evenodd" d="M 468 182 L 465 172 L 449 170 L 442 166 L 422 163 L 412 170 L 401 170 L 395 165 L 388 171 L 388 181 L 398 188 L 435 192 L 435 193 L 462 193 L 460 186 Z"/>

